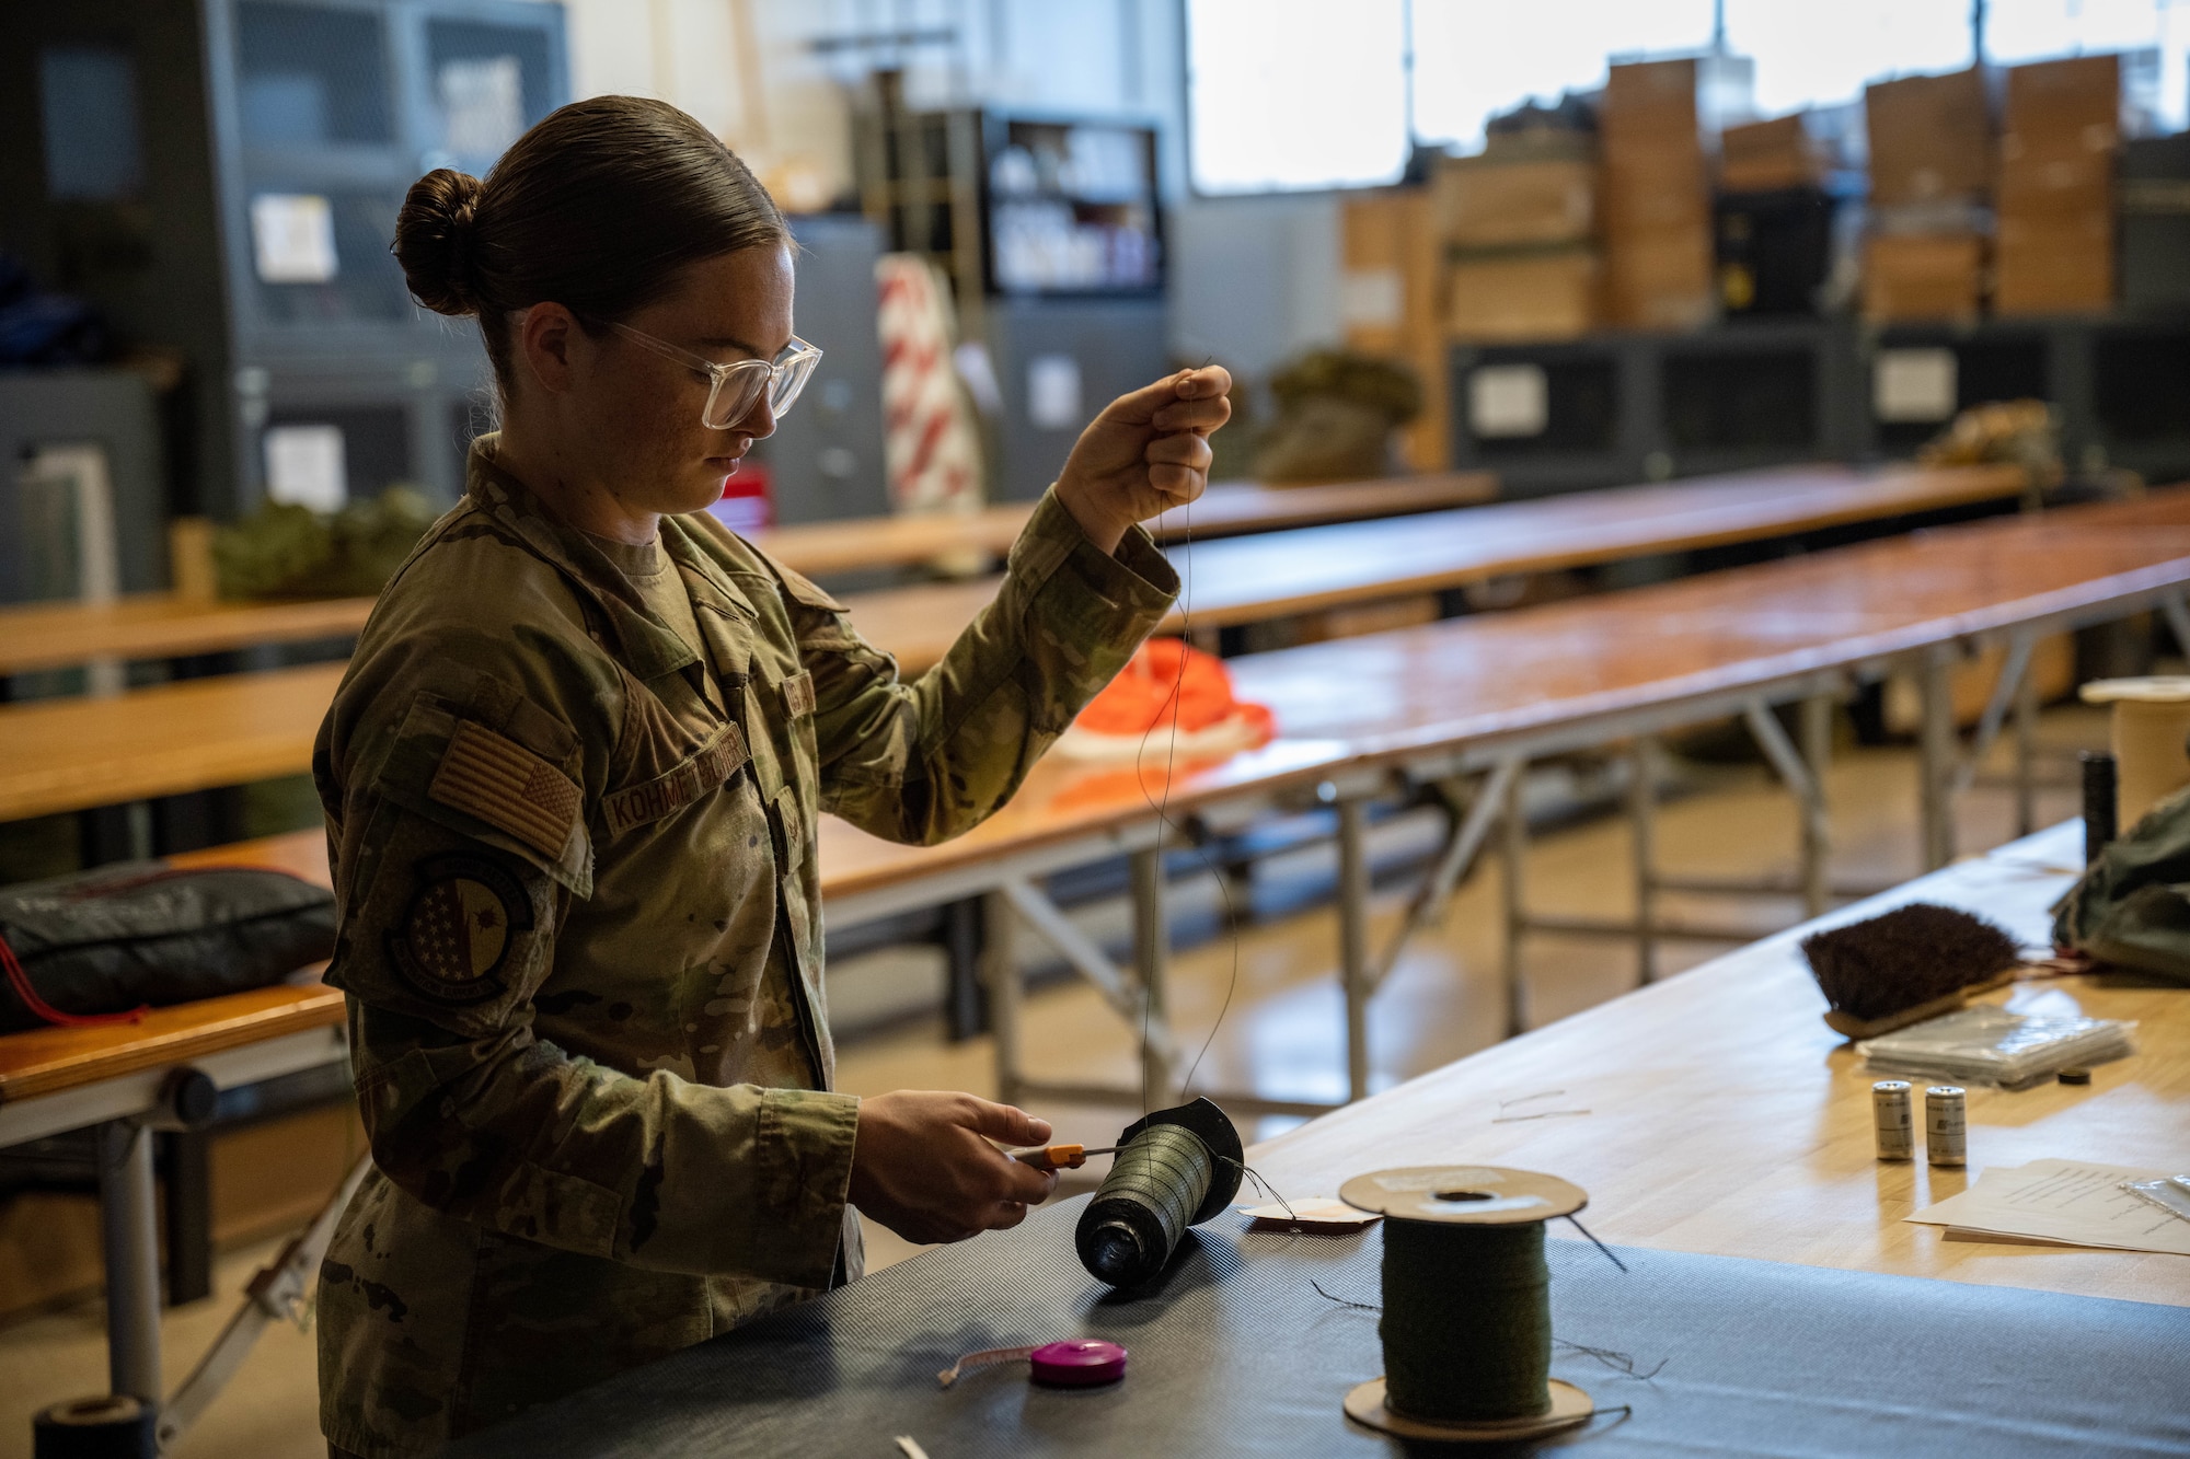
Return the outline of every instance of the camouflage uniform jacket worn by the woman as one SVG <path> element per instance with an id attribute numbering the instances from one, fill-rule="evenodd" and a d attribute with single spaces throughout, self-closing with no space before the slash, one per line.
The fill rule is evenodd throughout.
<path id="1" fill-rule="evenodd" d="M 374 1161 L 320 1273 L 320 1422 L 368 1459 L 858 1275 L 815 817 L 975 826 L 1176 591 L 1049 497 L 904 683 L 701 513 L 661 521 L 696 655 L 491 449 L 313 758 Z"/>

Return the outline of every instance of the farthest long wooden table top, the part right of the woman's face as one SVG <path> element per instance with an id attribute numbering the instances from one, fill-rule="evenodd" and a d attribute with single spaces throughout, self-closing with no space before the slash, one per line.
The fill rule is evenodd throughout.
<path id="1" fill-rule="evenodd" d="M 1165 513 L 1150 524 L 1156 541 L 1180 537 L 1240 537 L 1323 521 L 1367 521 L 1474 506 L 1498 497 L 1489 471 L 1437 471 L 1329 486 L 1264 486 L 1211 482 L 1187 513 Z M 1003 502 L 964 517 L 854 517 L 769 528 L 753 543 L 808 576 L 918 567 L 946 552 L 977 548 L 1003 556 L 1034 515 L 1034 502 Z"/>

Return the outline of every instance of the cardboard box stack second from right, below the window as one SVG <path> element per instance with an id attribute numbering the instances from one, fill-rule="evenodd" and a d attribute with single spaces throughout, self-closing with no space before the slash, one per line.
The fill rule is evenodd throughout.
<path id="1" fill-rule="evenodd" d="M 1864 92 L 1870 237 L 1864 313 L 1875 322 L 1975 320 L 1993 197 L 1982 70 L 1881 81 Z"/>

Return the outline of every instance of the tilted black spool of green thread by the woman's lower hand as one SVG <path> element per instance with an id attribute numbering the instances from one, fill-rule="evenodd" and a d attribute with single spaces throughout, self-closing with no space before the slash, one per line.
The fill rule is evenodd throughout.
<path id="1" fill-rule="evenodd" d="M 1073 1244 L 1088 1275 L 1137 1286 L 1161 1273 L 1187 1227 L 1240 1194 L 1240 1130 L 1207 1095 L 1126 1126 L 1102 1190 L 1080 1211 Z"/>

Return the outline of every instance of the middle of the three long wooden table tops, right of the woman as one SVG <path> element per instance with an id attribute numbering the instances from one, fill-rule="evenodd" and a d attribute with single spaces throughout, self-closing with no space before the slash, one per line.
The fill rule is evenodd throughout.
<path id="1" fill-rule="evenodd" d="M 2002 502 L 2024 489 L 2019 467 L 1787 467 L 1178 545 L 1169 556 L 1189 591 L 1165 631 Z M 996 583 L 852 594 L 845 607 L 876 646 L 920 673 L 996 596 Z"/>

